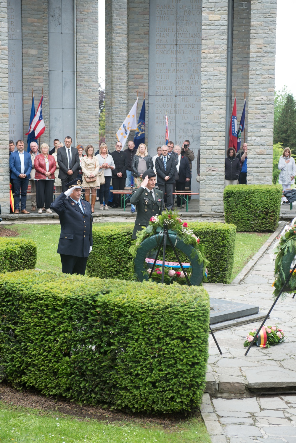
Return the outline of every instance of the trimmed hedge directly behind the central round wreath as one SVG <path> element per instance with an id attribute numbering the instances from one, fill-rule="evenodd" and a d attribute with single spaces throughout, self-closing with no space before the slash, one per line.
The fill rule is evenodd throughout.
<path id="1" fill-rule="evenodd" d="M 205 255 L 210 262 L 207 281 L 230 283 L 234 264 L 235 226 L 195 221 L 188 223 L 188 227 L 205 247 Z M 108 227 L 93 227 L 93 250 L 87 260 L 89 276 L 132 280 L 129 247 L 134 241 L 133 228 L 133 223 L 110 223 Z M 167 260 L 176 260 L 174 253 L 168 252 L 166 257 Z M 181 252 L 180 259 L 188 261 L 188 257 Z"/>

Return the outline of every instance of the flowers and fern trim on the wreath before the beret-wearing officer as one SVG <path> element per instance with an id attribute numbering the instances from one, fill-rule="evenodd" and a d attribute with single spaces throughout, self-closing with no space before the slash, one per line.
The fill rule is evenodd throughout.
<path id="1" fill-rule="evenodd" d="M 191 259 L 197 258 L 199 264 L 203 264 L 203 273 L 207 276 L 206 266 L 209 264 L 208 260 L 204 255 L 204 247 L 201 245 L 199 237 L 197 237 L 192 229 L 188 228 L 187 222 L 183 222 L 183 220 L 179 217 L 178 211 L 165 210 L 161 215 L 156 215 L 150 218 L 149 225 L 139 231 L 137 233 L 136 242 L 129 248 L 129 252 L 132 255 L 132 270 L 135 266 L 135 257 L 140 244 L 148 237 L 152 237 L 157 232 L 157 228 L 163 228 L 164 225 L 167 225 L 167 228 L 171 231 L 174 231 L 176 236 L 183 241 L 186 245 L 191 245 L 193 247 L 191 253 Z M 171 246 L 167 245 L 166 250 L 170 250 Z M 172 249 L 171 249 L 172 250 Z M 159 266 L 159 265 L 158 265 Z M 146 272 L 150 274 L 151 269 L 147 268 Z M 152 279 L 154 281 L 161 280 L 161 268 L 156 268 L 152 274 Z M 187 274 L 190 277 L 190 272 Z M 165 283 L 172 283 L 173 281 L 177 281 L 179 284 L 187 284 L 185 275 L 181 271 L 180 268 L 172 269 L 172 268 L 164 268 L 164 281 Z"/>

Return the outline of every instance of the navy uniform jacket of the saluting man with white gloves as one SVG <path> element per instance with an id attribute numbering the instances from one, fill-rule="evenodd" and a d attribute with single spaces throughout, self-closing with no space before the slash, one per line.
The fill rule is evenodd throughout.
<path id="1" fill-rule="evenodd" d="M 86 200 L 81 200 L 84 214 L 79 205 L 62 192 L 51 203 L 60 219 L 61 235 L 58 242 L 58 254 L 88 257 L 93 245 L 93 214 Z"/>

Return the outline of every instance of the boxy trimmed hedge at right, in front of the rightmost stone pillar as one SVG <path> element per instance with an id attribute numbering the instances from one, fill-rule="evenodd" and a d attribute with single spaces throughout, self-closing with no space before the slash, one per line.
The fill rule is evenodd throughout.
<path id="1" fill-rule="evenodd" d="M 275 231 L 280 218 L 280 185 L 237 185 L 224 189 L 226 223 L 238 231 Z"/>

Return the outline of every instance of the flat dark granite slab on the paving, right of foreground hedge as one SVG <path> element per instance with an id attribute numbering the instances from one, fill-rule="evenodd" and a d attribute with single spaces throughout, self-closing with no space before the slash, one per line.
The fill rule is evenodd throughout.
<path id="1" fill-rule="evenodd" d="M 210 325 L 257 314 L 259 306 L 210 297 Z"/>

